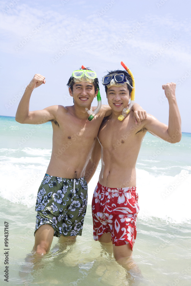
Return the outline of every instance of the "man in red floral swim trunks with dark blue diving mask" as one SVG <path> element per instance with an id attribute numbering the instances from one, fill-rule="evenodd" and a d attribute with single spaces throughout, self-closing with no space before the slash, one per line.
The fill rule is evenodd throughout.
<path id="1" fill-rule="evenodd" d="M 124 74 L 121 83 L 115 81 L 116 74 Z M 165 141 L 179 142 L 182 136 L 181 118 L 175 96 L 176 84 L 167 83 L 162 89 L 169 102 L 168 126 L 150 114 L 140 125 L 136 125 L 132 111 L 122 121 L 118 120 L 131 98 L 133 84 L 131 76 L 125 71 L 117 70 L 109 75 L 110 82 L 106 80 L 105 91 L 112 114 L 104 118 L 98 133 L 102 168 L 92 200 L 93 235 L 94 240 L 101 243 L 112 241 L 116 261 L 125 269 L 137 272 L 139 269 L 132 259 L 139 212 L 135 171 L 137 157 L 147 131 Z"/>

